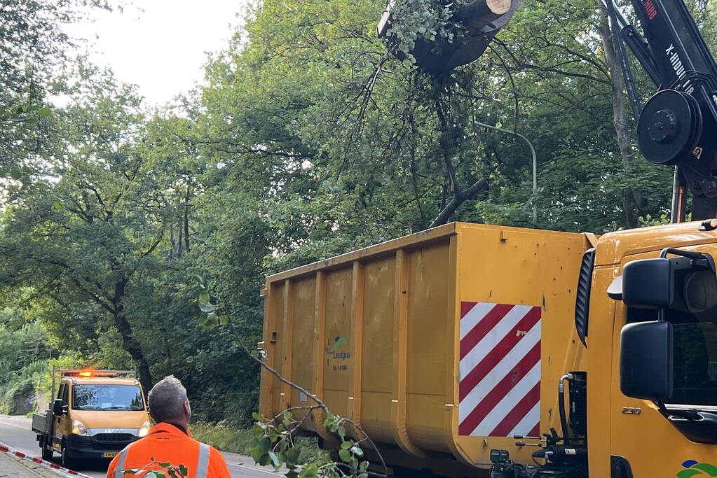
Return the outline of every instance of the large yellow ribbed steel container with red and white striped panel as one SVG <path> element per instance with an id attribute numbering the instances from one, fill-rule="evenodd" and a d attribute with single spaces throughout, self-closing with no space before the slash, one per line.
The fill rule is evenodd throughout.
<path id="1" fill-rule="evenodd" d="M 559 430 L 559 377 L 581 369 L 575 288 L 592 240 L 452 223 L 272 275 L 267 364 L 396 469 L 478 476 L 493 448 L 528 462 L 537 448 L 513 435 Z M 310 404 L 262 371 L 262 414 Z M 329 445 L 321 420 L 303 426 Z"/>

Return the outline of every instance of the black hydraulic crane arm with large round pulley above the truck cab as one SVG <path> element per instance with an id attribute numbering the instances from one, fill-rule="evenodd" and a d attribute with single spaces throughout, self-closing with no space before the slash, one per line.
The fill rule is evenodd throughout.
<path id="1" fill-rule="evenodd" d="M 693 219 L 717 215 L 717 64 L 683 0 L 632 0 L 644 37 L 607 0 L 613 27 L 660 88 L 637 121 L 640 152 L 650 162 L 675 165 L 673 222 L 693 193 Z M 615 38 L 616 43 L 620 39 Z M 617 46 L 620 54 L 620 46 Z M 621 55 L 622 64 L 627 57 Z M 623 67 L 625 72 L 625 67 Z M 635 111 L 634 84 L 626 77 Z"/>

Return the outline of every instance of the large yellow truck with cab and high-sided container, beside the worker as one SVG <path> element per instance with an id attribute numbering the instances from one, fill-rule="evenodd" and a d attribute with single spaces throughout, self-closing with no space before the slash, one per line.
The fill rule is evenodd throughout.
<path id="1" fill-rule="evenodd" d="M 717 476 L 716 228 L 442 225 L 268 277 L 260 348 L 393 474 Z"/>

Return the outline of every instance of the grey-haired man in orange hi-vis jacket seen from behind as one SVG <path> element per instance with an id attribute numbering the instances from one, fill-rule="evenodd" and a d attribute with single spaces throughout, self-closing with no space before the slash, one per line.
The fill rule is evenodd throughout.
<path id="1" fill-rule="evenodd" d="M 187 422 L 191 408 L 181 381 L 171 375 L 165 377 L 151 389 L 147 401 L 156 425 L 147 436 L 129 444 L 114 457 L 107 469 L 107 478 L 141 477 L 151 470 L 166 471 L 167 463 L 182 471 L 186 467 L 186 478 L 230 477 L 222 454 L 189 436 Z M 125 474 L 129 469 L 139 471 Z"/>

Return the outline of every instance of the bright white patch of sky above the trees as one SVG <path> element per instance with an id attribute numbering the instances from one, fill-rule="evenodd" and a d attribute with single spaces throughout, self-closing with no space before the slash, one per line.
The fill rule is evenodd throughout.
<path id="1" fill-rule="evenodd" d="M 95 9 L 94 23 L 70 26 L 87 39 L 92 62 L 138 84 L 148 104 L 163 104 L 204 77 L 204 52 L 225 49 L 245 0 L 133 0 L 123 14 Z"/>

